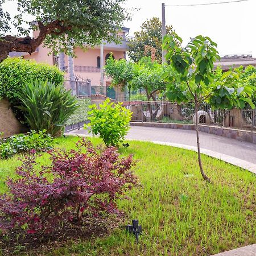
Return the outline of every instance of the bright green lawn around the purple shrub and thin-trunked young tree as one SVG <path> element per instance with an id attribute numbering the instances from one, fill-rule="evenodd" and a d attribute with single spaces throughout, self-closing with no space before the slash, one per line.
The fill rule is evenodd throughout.
<path id="1" fill-rule="evenodd" d="M 72 148 L 77 138 L 57 139 L 58 147 Z M 92 138 L 93 143 L 100 139 Z M 201 178 L 196 153 L 148 142 L 129 142 L 123 155 L 133 154 L 140 185 L 119 200 L 125 223 L 138 218 L 143 234 L 137 244 L 120 227 L 109 236 L 69 241 L 47 255 L 210 255 L 256 243 L 256 177 L 248 171 L 203 155 Z M 40 163 L 49 162 L 46 154 Z M 0 161 L 0 192 L 14 175 L 17 157 Z"/>

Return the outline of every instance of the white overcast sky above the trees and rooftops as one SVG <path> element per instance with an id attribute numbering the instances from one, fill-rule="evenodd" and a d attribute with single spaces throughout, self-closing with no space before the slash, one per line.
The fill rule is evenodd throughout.
<path id="1" fill-rule="evenodd" d="M 220 55 L 252 54 L 256 57 L 256 0 L 220 5 L 179 6 L 234 0 L 127 0 L 132 20 L 124 23 L 130 36 L 152 17 L 162 19 L 162 2 L 166 5 L 166 24 L 172 25 L 184 44 L 197 35 L 209 36 L 218 44 Z M 131 9 L 139 10 L 132 11 Z M 15 14 L 15 1 L 6 1 L 5 9 Z"/>

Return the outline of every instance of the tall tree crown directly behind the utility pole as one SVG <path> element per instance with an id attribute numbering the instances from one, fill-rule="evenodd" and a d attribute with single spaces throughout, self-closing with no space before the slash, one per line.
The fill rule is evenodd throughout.
<path id="1" fill-rule="evenodd" d="M 172 26 L 166 26 L 166 33 L 171 34 Z M 130 40 L 129 57 L 131 60 L 138 62 L 145 54 L 144 47 L 150 46 L 155 48 L 156 60 L 162 63 L 162 22 L 159 18 L 147 19 L 141 26 L 141 31 L 134 33 L 134 38 Z M 146 56 L 150 56 L 148 51 Z"/>

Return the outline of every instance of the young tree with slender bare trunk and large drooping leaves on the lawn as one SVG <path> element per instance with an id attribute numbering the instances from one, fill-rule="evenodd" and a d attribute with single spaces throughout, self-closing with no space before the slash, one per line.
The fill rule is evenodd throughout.
<path id="1" fill-rule="evenodd" d="M 177 34 L 166 35 L 163 48 L 167 50 L 166 59 L 177 71 L 180 83 L 173 82 L 173 76 L 166 75 L 170 83 L 167 86 L 166 96 L 170 100 L 193 101 L 195 103 L 195 126 L 197 138 L 197 154 L 200 172 L 203 178 L 210 182 L 205 174 L 201 162 L 199 141 L 199 104 L 208 101 L 213 108 L 232 109 L 234 106 L 243 108 L 248 102 L 254 108 L 251 97 L 255 90 L 250 84 L 237 82 L 238 75 L 233 71 L 224 74 L 214 73 L 213 63 L 220 59 L 217 44 L 207 36 L 196 36 L 186 47 L 180 47 L 177 41 L 182 39 Z"/>

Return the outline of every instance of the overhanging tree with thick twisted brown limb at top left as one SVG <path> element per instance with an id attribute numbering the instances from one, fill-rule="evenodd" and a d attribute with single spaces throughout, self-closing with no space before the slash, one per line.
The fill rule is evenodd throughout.
<path id="1" fill-rule="evenodd" d="M 53 52 L 71 53 L 72 47 L 96 46 L 102 40 L 118 42 L 116 30 L 129 14 L 122 7 L 125 0 L 17 0 L 18 15 L 11 18 L 0 0 L 0 62 L 9 52 L 32 53 L 44 43 Z M 26 15 L 24 15 L 26 14 Z M 32 15 L 36 23 L 24 20 Z M 29 25 L 29 29 L 25 29 Z M 10 36 L 11 28 L 18 30 Z M 32 29 L 39 30 L 30 38 Z"/>

